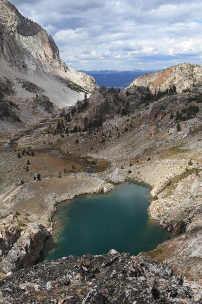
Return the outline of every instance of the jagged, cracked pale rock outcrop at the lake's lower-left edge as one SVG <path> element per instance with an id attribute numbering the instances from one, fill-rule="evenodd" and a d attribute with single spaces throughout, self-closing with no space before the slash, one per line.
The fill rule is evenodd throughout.
<path id="1" fill-rule="evenodd" d="M 4 273 L 33 265 L 49 234 L 37 223 L 23 223 L 13 215 L 0 225 L 0 268 Z"/>

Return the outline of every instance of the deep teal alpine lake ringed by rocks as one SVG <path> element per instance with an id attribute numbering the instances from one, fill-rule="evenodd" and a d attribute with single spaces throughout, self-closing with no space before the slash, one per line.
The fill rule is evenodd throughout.
<path id="1" fill-rule="evenodd" d="M 107 195 L 82 196 L 59 205 L 62 229 L 52 250 L 51 241 L 46 242 L 44 258 L 103 254 L 111 248 L 134 255 L 155 249 L 170 235 L 149 221 L 149 194 L 148 186 L 125 182 Z"/>

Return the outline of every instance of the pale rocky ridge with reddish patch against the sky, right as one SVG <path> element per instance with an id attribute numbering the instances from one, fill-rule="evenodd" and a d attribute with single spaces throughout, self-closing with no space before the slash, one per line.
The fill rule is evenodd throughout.
<path id="1" fill-rule="evenodd" d="M 169 86 L 175 85 L 177 92 L 202 84 L 202 67 L 200 65 L 183 63 L 168 67 L 163 71 L 148 73 L 135 79 L 129 86 L 149 87 L 151 92 L 155 90 L 165 91 Z"/>

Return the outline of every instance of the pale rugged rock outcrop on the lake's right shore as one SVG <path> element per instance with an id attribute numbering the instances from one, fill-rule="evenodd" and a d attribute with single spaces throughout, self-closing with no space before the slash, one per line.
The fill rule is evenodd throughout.
<path id="1" fill-rule="evenodd" d="M 151 191 L 156 198 L 149 206 L 151 217 L 175 235 L 202 226 L 202 183 L 197 170 L 170 177 Z"/>

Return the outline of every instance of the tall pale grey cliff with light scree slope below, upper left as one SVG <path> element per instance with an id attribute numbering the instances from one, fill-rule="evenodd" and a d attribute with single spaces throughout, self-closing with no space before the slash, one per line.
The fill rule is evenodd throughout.
<path id="1" fill-rule="evenodd" d="M 23 17 L 8 1 L 0 1 L 0 76 L 14 82 L 17 93 L 30 96 L 16 79 L 32 82 L 62 107 L 90 94 L 92 77 L 69 68 L 60 58 L 53 37 L 39 24 Z"/>

